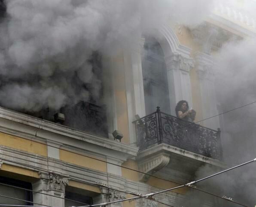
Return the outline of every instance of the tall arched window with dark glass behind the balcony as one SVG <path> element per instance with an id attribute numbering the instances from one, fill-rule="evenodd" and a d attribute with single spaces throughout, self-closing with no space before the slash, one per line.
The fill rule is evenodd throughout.
<path id="1" fill-rule="evenodd" d="M 146 37 L 142 57 L 143 88 L 146 114 L 156 107 L 170 114 L 170 99 L 164 52 L 152 37 Z"/>

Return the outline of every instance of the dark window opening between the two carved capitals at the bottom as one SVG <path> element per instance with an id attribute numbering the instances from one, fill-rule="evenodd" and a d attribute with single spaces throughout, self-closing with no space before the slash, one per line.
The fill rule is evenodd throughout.
<path id="1" fill-rule="evenodd" d="M 74 192 L 65 191 L 65 198 L 73 200 L 73 201 L 65 200 L 65 207 L 82 206 L 82 204 L 79 202 L 82 202 L 84 204 L 89 204 L 89 205 L 93 204 L 91 197 L 74 193 Z M 76 201 L 79 201 L 79 202 L 76 202 Z"/>

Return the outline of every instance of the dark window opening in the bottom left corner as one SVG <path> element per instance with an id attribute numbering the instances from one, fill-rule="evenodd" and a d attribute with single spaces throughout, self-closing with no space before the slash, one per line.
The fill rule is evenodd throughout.
<path id="1" fill-rule="evenodd" d="M 23 189 L 17 189 L 12 186 L 17 186 L 25 189 L 32 190 L 31 183 L 27 183 L 21 180 L 15 180 L 7 177 L 0 176 L 0 183 L 4 183 L 10 186 L 4 186 L 0 184 L 0 195 L 12 197 L 12 198 L 18 198 L 24 201 L 19 201 L 11 198 L 0 198 L 0 204 L 9 204 L 9 205 L 27 205 L 32 206 L 33 203 L 33 194 L 31 191 L 26 191 Z M 30 202 L 26 202 L 30 201 Z"/>

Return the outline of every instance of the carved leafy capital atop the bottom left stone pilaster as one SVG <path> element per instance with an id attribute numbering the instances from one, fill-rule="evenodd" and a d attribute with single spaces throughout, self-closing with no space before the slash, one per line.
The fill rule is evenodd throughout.
<path id="1" fill-rule="evenodd" d="M 60 192 L 65 192 L 65 187 L 68 185 L 68 176 L 64 176 L 61 174 L 55 174 L 53 172 L 49 172 L 48 174 L 45 172 L 39 172 L 40 178 L 44 180 L 46 184 L 44 188 L 45 190 L 55 190 Z"/>

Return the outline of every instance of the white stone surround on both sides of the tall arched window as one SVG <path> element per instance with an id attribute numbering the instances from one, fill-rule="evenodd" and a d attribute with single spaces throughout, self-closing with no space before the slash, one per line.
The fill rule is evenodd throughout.
<path id="1" fill-rule="evenodd" d="M 190 58 L 191 49 L 180 44 L 176 34 L 170 26 L 164 25 L 152 35 L 163 49 L 168 74 L 168 89 L 170 96 L 171 115 L 175 115 L 175 106 L 179 100 L 188 100 L 192 106 L 191 84 L 189 71 L 193 67 Z M 138 40 L 136 51 L 124 54 L 125 85 L 128 106 L 130 142 L 136 142 L 134 124 L 135 115 L 146 116 L 143 88 L 143 74 L 141 66 L 141 49 L 143 38 Z M 131 57 L 126 58 L 126 57 Z"/>

